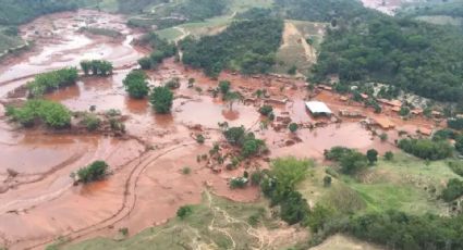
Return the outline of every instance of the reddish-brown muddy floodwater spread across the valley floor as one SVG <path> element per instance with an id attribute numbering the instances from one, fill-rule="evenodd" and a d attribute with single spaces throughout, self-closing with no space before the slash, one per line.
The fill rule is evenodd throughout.
<path id="1" fill-rule="evenodd" d="M 122 227 L 136 234 L 166 223 L 181 205 L 199 202 L 206 187 L 236 201 L 257 199 L 259 190 L 255 187 L 231 190 L 228 186 L 228 180 L 242 175 L 244 168 L 214 173 L 197 160 L 209 152 L 214 142 L 223 141 L 219 129 L 219 123 L 223 122 L 230 126 L 243 125 L 266 139 L 270 159 L 295 155 L 321 162 L 324 150 L 333 146 L 361 151 L 394 150 L 392 142 L 379 141 L 360 120 L 333 122 L 312 117 L 305 109 L 308 93 L 302 80 L 223 73 L 219 79 L 231 80 L 232 88 L 245 96 L 243 102 L 230 105 L 211 95 L 218 80 L 173 59 L 147 72 L 151 87 L 172 77 L 178 77 L 181 84 L 174 90 L 171 114 L 155 114 L 148 100 L 129 98 L 122 85 L 129 72 L 136 67 L 136 60 L 148 53 L 132 45 L 139 34 L 124 23 L 124 17 L 119 15 L 78 11 L 47 15 L 21 27 L 21 34 L 34 39 L 36 46 L 1 64 L 1 103 L 11 101 L 8 92 L 37 73 L 77 66 L 84 59 L 109 60 L 115 66 L 112 76 L 80 77 L 75 86 L 45 98 L 72 111 L 88 111 L 90 107 L 96 108 L 95 112 L 120 110 L 127 117 L 126 136 L 56 133 L 40 127 L 24 129 L 8 122 L 4 107 L 0 105 L 0 246 L 42 249 L 60 236 L 70 240 L 113 237 Z M 85 25 L 115 29 L 122 37 L 113 39 L 78 32 Z M 188 88 L 187 80 L 192 77 L 196 83 Z M 255 97 L 258 89 L 267 90 L 267 101 L 277 116 L 273 124 L 264 126 L 265 118 L 258 109 L 266 101 Z M 316 98 L 326 101 L 334 112 L 345 104 L 330 92 Z M 376 115 L 366 109 L 363 112 Z M 301 129 L 289 133 L 284 121 L 300 124 Z M 421 120 L 411 124 L 397 117 L 393 121 L 410 130 L 426 125 Z M 388 133 L 391 138 L 397 134 Z M 196 142 L 197 134 L 206 137 L 205 145 Z M 74 186 L 70 174 L 96 160 L 108 162 L 111 175 L 102 182 Z M 264 159 L 253 165 L 268 167 Z M 192 173 L 182 174 L 184 167 L 190 167 Z"/>

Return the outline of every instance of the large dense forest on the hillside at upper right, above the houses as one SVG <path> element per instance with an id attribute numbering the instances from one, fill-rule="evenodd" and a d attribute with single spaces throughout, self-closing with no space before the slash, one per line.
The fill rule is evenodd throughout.
<path id="1" fill-rule="evenodd" d="M 380 82 L 440 101 L 463 100 L 463 35 L 412 20 L 377 15 L 328 30 L 315 80 Z"/>

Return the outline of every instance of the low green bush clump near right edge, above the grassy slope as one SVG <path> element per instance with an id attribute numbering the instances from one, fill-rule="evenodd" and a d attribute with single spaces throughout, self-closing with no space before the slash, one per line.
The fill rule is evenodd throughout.
<path id="1" fill-rule="evenodd" d="M 446 159 L 453 154 L 453 147 L 444 140 L 402 139 L 399 141 L 399 148 L 415 157 L 431 161 Z"/>

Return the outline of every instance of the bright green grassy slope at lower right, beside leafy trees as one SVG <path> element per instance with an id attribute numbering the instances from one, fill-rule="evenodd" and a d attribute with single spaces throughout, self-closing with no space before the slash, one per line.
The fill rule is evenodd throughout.
<path id="1" fill-rule="evenodd" d="M 386 211 L 447 214 L 437 197 L 450 178 L 461 178 L 444 161 L 427 163 L 404 153 L 393 161 L 380 160 L 356 178 L 339 175 L 331 187 L 322 186 L 326 167 L 318 167 L 300 187 L 310 203 L 320 202 L 341 213 Z"/>

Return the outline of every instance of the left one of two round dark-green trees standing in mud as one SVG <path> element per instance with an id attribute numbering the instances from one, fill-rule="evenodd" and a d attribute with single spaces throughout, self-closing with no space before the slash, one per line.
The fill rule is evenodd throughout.
<path id="1" fill-rule="evenodd" d="M 143 99 L 148 96 L 149 92 L 148 83 L 146 82 L 147 78 L 148 76 L 145 72 L 133 70 L 125 76 L 122 83 L 132 98 Z"/>

